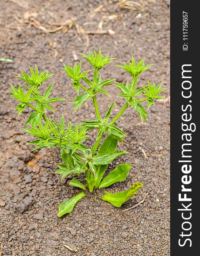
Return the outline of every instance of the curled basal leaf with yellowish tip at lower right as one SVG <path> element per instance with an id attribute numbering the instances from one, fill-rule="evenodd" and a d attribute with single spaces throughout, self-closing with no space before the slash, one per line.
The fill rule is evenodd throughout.
<path id="1" fill-rule="evenodd" d="M 143 186 L 142 183 L 134 183 L 133 186 L 131 186 L 130 189 L 127 189 L 123 192 L 119 193 L 108 193 L 104 192 L 104 197 L 101 199 L 104 201 L 109 202 L 110 204 L 113 204 L 116 207 L 121 207 L 122 204 L 124 204 L 126 201 L 128 201 L 133 195 L 137 193 L 139 188 Z"/>

